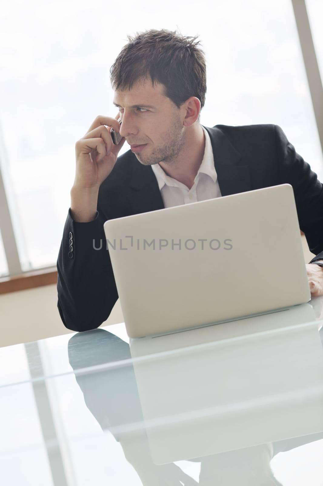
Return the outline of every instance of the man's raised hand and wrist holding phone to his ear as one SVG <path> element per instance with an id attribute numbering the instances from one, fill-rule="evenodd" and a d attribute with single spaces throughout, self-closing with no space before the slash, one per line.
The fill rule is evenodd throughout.
<path id="1" fill-rule="evenodd" d="M 71 211 L 77 222 L 89 222 L 97 212 L 98 190 L 111 173 L 125 138 L 118 144 L 113 137 L 119 135 L 120 114 L 115 118 L 98 116 L 83 138 L 75 144 L 76 171 L 71 189 Z M 115 140 L 117 141 L 117 140 Z"/>

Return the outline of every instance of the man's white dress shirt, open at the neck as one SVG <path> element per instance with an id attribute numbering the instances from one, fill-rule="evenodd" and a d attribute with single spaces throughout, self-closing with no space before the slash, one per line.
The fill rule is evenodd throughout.
<path id="1" fill-rule="evenodd" d="M 167 175 L 159 164 L 151 166 L 156 176 L 165 208 L 221 197 L 218 177 L 214 168 L 210 136 L 203 126 L 202 128 L 205 135 L 204 156 L 191 189 Z"/>

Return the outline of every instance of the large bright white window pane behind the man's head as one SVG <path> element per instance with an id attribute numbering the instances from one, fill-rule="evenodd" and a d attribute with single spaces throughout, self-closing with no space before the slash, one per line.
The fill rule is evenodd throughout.
<path id="1" fill-rule="evenodd" d="M 0 123 L 23 270 L 56 263 L 75 142 L 97 115 L 116 114 L 109 70 L 127 34 L 149 28 L 198 34 L 208 69 L 201 123 L 278 124 L 323 179 L 290 0 L 165 0 L 158 16 L 151 1 L 126 0 L 122 19 L 115 21 L 119 13 L 102 0 L 94 6 L 84 0 L 13 0 L 2 6 Z M 317 25 L 322 30 L 319 16 Z"/>

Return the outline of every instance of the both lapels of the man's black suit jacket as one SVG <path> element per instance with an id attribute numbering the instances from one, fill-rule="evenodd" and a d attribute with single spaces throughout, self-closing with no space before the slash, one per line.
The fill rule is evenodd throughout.
<path id="1" fill-rule="evenodd" d="M 241 154 L 217 126 L 204 128 L 210 135 L 214 167 L 222 196 L 250 191 L 249 166 L 241 164 Z M 133 214 L 163 209 L 161 192 L 151 166 L 141 164 L 132 152 L 129 153 L 129 158 L 132 162 L 129 199 Z"/>

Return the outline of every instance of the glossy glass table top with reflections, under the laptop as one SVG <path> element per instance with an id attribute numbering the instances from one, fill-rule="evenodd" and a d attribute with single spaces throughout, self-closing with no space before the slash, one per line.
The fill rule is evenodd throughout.
<path id="1" fill-rule="evenodd" d="M 323 297 L 0 348 L 1 484 L 323 485 Z M 130 342 L 129 342 L 130 341 Z"/>

